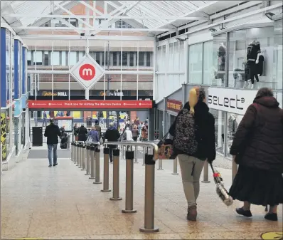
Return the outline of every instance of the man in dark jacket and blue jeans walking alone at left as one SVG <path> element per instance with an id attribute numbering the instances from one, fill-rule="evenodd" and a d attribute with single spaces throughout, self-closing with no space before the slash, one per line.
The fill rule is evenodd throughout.
<path id="1" fill-rule="evenodd" d="M 56 166 L 58 165 L 57 163 L 58 137 L 61 137 L 61 132 L 58 125 L 54 124 L 54 120 L 52 118 L 50 118 L 50 125 L 46 127 L 44 136 L 47 137 L 48 160 L 49 160 L 48 167 L 52 167 L 52 149 L 53 149 L 53 166 Z"/>

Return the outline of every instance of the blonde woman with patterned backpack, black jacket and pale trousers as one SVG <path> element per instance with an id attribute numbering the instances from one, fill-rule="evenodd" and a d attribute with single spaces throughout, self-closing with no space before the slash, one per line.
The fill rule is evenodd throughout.
<path id="1" fill-rule="evenodd" d="M 196 221 L 196 200 L 200 192 L 200 176 L 205 160 L 215 160 L 214 117 L 205 104 L 202 88 L 192 88 L 189 101 L 171 125 L 174 155 L 178 155 L 183 180 L 183 190 L 188 202 L 187 219 Z M 180 146 L 183 146 L 181 148 Z"/>

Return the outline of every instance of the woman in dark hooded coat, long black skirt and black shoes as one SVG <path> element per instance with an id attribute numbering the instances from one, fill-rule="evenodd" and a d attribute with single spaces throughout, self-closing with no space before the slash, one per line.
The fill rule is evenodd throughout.
<path id="1" fill-rule="evenodd" d="M 230 196 L 244 202 L 237 214 L 250 217 L 250 204 L 267 206 L 265 219 L 277 221 L 283 203 L 283 112 L 272 90 L 258 90 L 240 122 L 230 154 L 239 165 Z"/>

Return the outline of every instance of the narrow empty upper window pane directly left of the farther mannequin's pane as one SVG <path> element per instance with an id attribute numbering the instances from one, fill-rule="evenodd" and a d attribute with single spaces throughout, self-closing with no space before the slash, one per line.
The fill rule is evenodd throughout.
<path id="1" fill-rule="evenodd" d="M 211 85 L 213 71 L 213 41 L 203 43 L 203 84 Z"/>

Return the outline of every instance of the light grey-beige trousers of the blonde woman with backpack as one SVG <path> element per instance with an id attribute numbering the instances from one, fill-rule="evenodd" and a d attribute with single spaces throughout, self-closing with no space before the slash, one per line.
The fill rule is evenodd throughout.
<path id="1" fill-rule="evenodd" d="M 188 207 L 196 205 L 196 199 L 200 192 L 200 177 L 205 161 L 196 157 L 179 154 L 178 160 L 183 181 L 183 191 L 185 192 Z"/>

